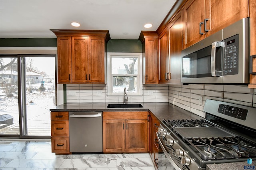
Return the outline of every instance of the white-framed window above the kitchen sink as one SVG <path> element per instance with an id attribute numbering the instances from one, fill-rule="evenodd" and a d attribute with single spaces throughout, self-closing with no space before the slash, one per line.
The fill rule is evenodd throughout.
<path id="1" fill-rule="evenodd" d="M 108 53 L 108 95 L 141 94 L 141 53 Z"/>

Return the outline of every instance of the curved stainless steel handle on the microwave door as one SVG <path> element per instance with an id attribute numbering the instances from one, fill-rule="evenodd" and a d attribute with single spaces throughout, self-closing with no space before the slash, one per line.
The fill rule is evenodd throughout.
<path id="1" fill-rule="evenodd" d="M 216 71 L 216 47 L 226 47 L 225 42 L 213 42 L 212 43 L 212 52 L 211 52 L 211 73 L 212 77 L 216 77 L 216 72 L 222 72 L 222 71 Z"/>

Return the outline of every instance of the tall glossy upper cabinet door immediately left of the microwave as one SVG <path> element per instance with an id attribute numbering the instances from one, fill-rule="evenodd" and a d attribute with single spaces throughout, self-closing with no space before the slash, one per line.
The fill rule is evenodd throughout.
<path id="1" fill-rule="evenodd" d="M 181 77 L 181 51 L 182 51 L 182 38 L 183 27 L 181 15 L 174 19 L 170 24 L 170 79 L 168 83 L 180 83 Z"/>

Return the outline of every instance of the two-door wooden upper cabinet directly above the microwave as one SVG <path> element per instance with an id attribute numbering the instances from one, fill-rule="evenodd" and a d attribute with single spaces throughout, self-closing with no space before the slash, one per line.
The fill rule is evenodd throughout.
<path id="1" fill-rule="evenodd" d="M 188 0 L 183 8 L 183 49 L 246 18 L 247 0 Z"/>

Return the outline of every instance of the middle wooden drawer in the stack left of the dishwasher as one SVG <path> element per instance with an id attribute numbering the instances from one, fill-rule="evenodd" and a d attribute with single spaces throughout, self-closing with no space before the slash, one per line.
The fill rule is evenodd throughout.
<path id="1" fill-rule="evenodd" d="M 51 121 L 51 134 L 52 136 L 69 136 L 69 123 L 68 121 Z"/>

